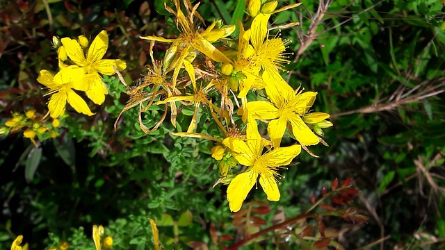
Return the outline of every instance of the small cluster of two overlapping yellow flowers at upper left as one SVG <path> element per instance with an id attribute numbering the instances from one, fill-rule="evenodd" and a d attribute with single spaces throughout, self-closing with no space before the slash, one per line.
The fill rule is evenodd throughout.
<path id="1" fill-rule="evenodd" d="M 53 38 L 53 42 L 60 70 L 53 74 L 42 69 L 37 78 L 49 89 L 47 94 L 51 94 L 48 103 L 51 117 L 63 115 L 67 102 L 78 113 L 94 115 L 76 90 L 85 92 L 86 97 L 96 104 L 104 103 L 108 90 L 100 74 L 113 75 L 113 67 L 122 71 L 127 67 L 126 63 L 120 59 L 102 59 L 108 49 L 106 31 L 101 31 L 89 46 L 84 35 L 77 40 Z"/>

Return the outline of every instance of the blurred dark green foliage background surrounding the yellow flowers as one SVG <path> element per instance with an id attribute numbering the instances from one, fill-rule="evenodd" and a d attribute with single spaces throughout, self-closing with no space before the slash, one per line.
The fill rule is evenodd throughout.
<path id="1" fill-rule="evenodd" d="M 300 163 L 289 167 L 282 199 L 270 207 L 284 207 L 286 217 L 298 215 L 329 180 L 353 177 L 362 191 L 357 206 L 369 223 L 357 231 L 358 226 L 338 220 L 325 222 L 332 233 L 342 232 L 339 242 L 346 249 L 388 235 L 381 243 L 385 249 L 422 244 L 441 249 L 444 6 L 432 0 L 325 3 L 328 8 L 315 27 L 319 1 L 275 15 L 273 26 L 301 22 L 281 31 L 293 41 L 288 48 L 292 63 L 286 65 L 289 81 L 293 88 L 318 92 L 315 109 L 332 114 L 334 127 L 325 132 L 330 147 L 313 149 L 320 158 L 302 154 Z M 53 35 L 90 37 L 105 28 L 111 41 L 106 56 L 127 61 L 124 77 L 131 83 L 149 60 L 148 43 L 138 36 L 175 32 L 158 0 L 0 0 L 0 6 L 3 120 L 31 107 L 44 112 L 44 91 L 35 78 L 40 69 L 56 68 Z M 207 21 L 218 17 L 234 24 L 244 6 L 245 1 L 205 0 L 199 10 Z M 296 57 L 302 42 L 309 46 Z M 158 43 L 154 50 L 161 56 L 165 48 Z M 34 148 L 18 133 L 0 139 L 0 248 L 23 234 L 32 249 L 55 247 L 61 240 L 93 249 L 90 227 L 104 224 L 114 249 L 129 244 L 147 249 L 152 246 L 148 217 L 161 222 L 161 242 L 172 247 L 195 241 L 216 248 L 212 232 L 235 235 L 226 187 L 211 188 L 218 178 L 211 143 L 175 138 L 168 123 L 145 135 L 135 110 L 122 115 L 114 131 L 128 97 L 117 78 L 105 81 L 110 94 L 105 105 L 93 110 L 97 115 L 67 117 L 55 140 Z M 179 115 L 178 129 L 190 119 L 186 112 Z M 146 126 L 158 120 L 156 110 L 145 114 Z M 204 122 L 198 126 L 215 129 Z M 266 197 L 255 192 L 248 199 Z M 165 217 L 170 219 L 165 222 Z"/>

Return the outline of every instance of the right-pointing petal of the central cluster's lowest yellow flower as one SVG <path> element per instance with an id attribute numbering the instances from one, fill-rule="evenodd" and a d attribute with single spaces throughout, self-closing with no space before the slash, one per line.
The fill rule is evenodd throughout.
<path id="1" fill-rule="evenodd" d="M 269 167 L 279 167 L 289 165 L 293 158 L 301 152 L 301 146 L 298 144 L 289 147 L 280 147 L 265 153 L 259 160 Z"/>

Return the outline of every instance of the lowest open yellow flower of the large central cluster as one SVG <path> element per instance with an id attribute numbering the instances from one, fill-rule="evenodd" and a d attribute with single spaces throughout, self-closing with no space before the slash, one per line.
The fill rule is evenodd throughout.
<path id="1" fill-rule="evenodd" d="M 300 145 L 292 145 L 262 154 L 265 142 L 259 135 L 257 122 L 252 117 L 248 117 L 246 131 L 247 142 L 238 138 L 223 140 L 223 144 L 232 151 L 232 156 L 238 160 L 238 163 L 250 167 L 247 171 L 238 174 L 227 188 L 227 200 L 232 212 L 240 210 L 245 197 L 257 183 L 258 176 L 259 184 L 266 193 L 267 199 L 280 200 L 280 191 L 275 181 L 275 176 L 278 175 L 277 168 L 289 165 L 301 151 Z"/>

